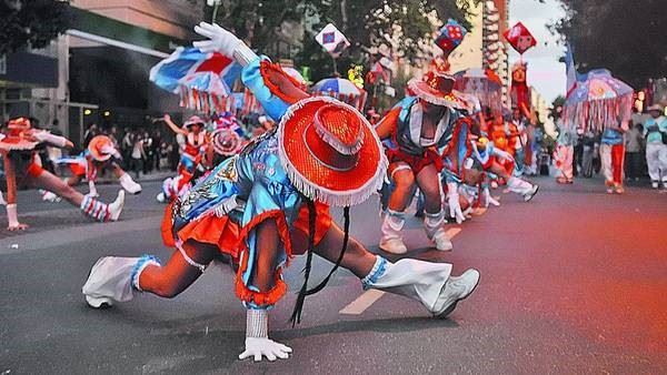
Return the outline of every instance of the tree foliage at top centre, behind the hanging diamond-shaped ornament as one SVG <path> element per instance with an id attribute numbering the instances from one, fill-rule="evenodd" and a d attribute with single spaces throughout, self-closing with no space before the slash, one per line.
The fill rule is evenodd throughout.
<path id="1" fill-rule="evenodd" d="M 222 0 L 217 22 L 259 51 L 275 43 L 285 22 L 301 23 L 305 34 L 296 60 L 311 67 L 317 79 L 334 71 L 334 61 L 315 41 L 317 32 L 329 22 L 351 42 L 337 61 L 346 69 L 351 62 L 364 63 L 369 48 L 390 44 L 387 38 L 392 38 L 392 47 L 408 60 L 419 58 L 420 45 L 431 40 L 431 20 L 454 18 L 469 28 L 469 2 L 464 0 Z M 210 8 L 207 14 L 210 19 Z"/>

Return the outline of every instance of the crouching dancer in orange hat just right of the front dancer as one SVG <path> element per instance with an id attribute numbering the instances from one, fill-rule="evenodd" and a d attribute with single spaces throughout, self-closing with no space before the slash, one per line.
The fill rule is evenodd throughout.
<path id="1" fill-rule="evenodd" d="M 390 139 L 396 145 L 387 149 L 388 174 L 395 189 L 389 196 L 379 244 L 388 253 L 408 251 L 401 230 L 416 188 L 425 199 L 424 227 L 428 239 L 435 242 L 437 250 L 452 249 L 444 229 L 439 182 L 442 160 L 438 150 L 449 142 L 459 111 L 467 108 L 467 103 L 451 90 L 455 79 L 446 70 L 446 62 L 436 62 L 424 79 L 410 80 L 408 89 L 415 97 L 400 101 L 376 128 L 381 140 Z"/>

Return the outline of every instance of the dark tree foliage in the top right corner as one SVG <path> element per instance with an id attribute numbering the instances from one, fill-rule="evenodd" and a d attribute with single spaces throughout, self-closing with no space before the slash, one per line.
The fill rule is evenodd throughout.
<path id="1" fill-rule="evenodd" d="M 643 88 L 667 72 L 665 0 L 560 0 L 566 17 L 554 29 L 575 49 L 580 72 L 606 68 Z"/>

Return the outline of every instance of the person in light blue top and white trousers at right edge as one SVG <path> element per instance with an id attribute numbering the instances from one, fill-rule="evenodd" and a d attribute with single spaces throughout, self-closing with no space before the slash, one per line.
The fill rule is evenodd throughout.
<path id="1" fill-rule="evenodd" d="M 663 115 L 663 105 L 648 108 L 650 119 L 646 120 L 644 136 L 646 138 L 646 164 L 650 184 L 654 189 L 667 189 L 667 118 Z"/>

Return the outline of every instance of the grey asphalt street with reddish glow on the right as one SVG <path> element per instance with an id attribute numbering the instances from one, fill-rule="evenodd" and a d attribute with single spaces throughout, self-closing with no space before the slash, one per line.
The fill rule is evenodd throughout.
<path id="1" fill-rule="evenodd" d="M 293 355 L 260 364 L 237 359 L 246 315 L 227 265 L 209 267 L 173 300 L 137 294 L 109 310 L 86 305 L 81 285 L 98 257 L 169 257 L 159 182 L 128 196 L 122 220 L 110 224 L 21 192 L 19 212 L 31 227 L 0 230 L 0 374 L 667 373 L 667 194 L 607 195 L 599 180 L 536 181 L 542 189 L 532 202 L 497 190 L 500 207 L 451 225 L 451 253 L 431 250 L 410 217 L 407 256 L 451 262 L 455 274 L 481 272 L 475 294 L 447 320 L 365 292 L 341 270 L 306 300 L 292 328 L 303 264 L 295 260 L 291 292 L 271 311 L 272 338 Z M 116 190 L 101 186 L 102 199 Z M 377 197 L 352 210 L 352 234 L 374 252 L 377 211 Z M 330 266 L 316 261 L 311 281 Z"/>

